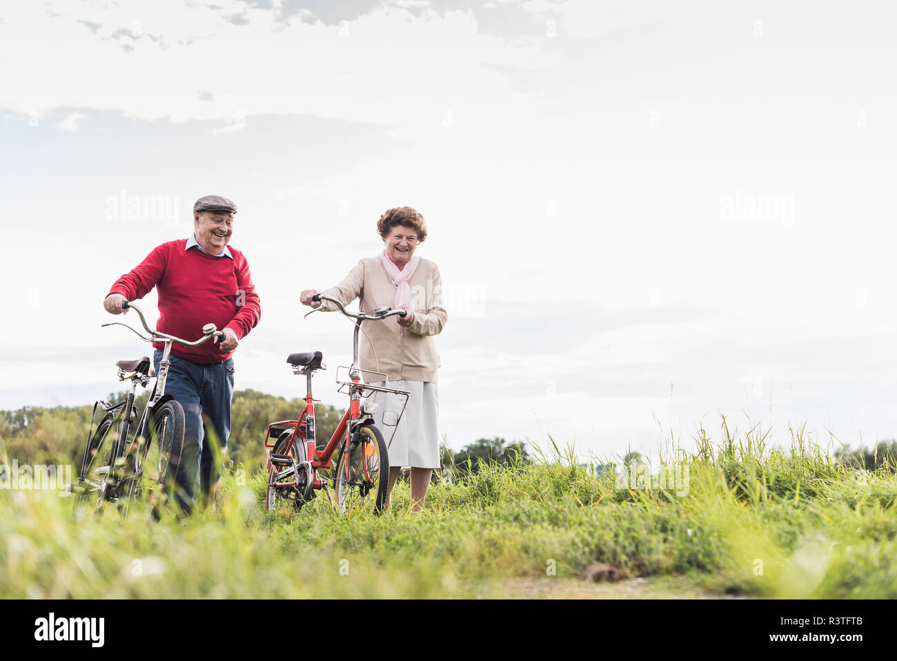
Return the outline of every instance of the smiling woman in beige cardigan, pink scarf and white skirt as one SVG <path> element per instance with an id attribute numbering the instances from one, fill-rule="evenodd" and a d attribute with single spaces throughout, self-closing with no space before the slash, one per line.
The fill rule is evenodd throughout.
<path id="1" fill-rule="evenodd" d="M 442 306 L 440 270 L 430 260 L 414 254 L 427 238 L 423 216 L 412 207 L 389 209 L 380 216 L 377 232 L 385 243 L 383 252 L 360 260 L 339 285 L 321 293 L 344 305 L 361 298 L 361 310 L 367 313 L 379 307 L 408 311 L 405 317 L 365 324 L 376 357 L 370 344 L 362 341 L 360 358 L 362 369 L 388 375 L 387 387 L 411 393 L 389 445 L 385 506 L 389 507 L 399 472 L 409 467 L 412 507 L 418 511 L 423 507 L 433 469 L 440 466 L 436 386 L 440 357 L 432 336 L 442 331 L 448 313 Z M 318 307 L 320 303 L 311 300 L 316 294 L 315 289 L 305 289 L 300 301 Z"/>

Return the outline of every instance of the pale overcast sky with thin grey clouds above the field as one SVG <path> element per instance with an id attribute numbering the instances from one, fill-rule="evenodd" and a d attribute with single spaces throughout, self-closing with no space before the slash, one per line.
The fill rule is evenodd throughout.
<path id="1" fill-rule="evenodd" d="M 886 2 L 7 0 L 0 409 L 118 388 L 146 348 L 100 329 L 102 298 L 214 193 L 262 298 L 238 389 L 304 394 L 294 351 L 348 363 L 351 324 L 303 319 L 300 289 L 410 205 L 447 291 L 455 448 L 652 454 L 721 415 L 779 444 L 897 436 L 895 22 Z M 316 392 L 343 405 L 334 376 Z"/>

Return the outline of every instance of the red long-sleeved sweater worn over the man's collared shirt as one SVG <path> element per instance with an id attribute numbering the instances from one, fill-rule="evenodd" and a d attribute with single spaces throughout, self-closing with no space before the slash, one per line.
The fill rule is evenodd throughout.
<path id="1" fill-rule="evenodd" d="M 109 294 L 134 301 L 158 286 L 157 331 L 194 341 L 203 337 L 206 323 L 213 323 L 219 331 L 231 328 L 238 338 L 245 337 L 258 323 L 261 305 L 243 253 L 228 246 L 231 260 L 213 257 L 198 247 L 185 251 L 186 245 L 187 239 L 162 243 L 136 269 L 118 278 Z M 152 346 L 161 349 L 162 343 L 153 342 Z M 175 342 L 171 353 L 205 365 L 233 355 L 232 351 L 222 352 L 211 339 L 199 347 Z"/>

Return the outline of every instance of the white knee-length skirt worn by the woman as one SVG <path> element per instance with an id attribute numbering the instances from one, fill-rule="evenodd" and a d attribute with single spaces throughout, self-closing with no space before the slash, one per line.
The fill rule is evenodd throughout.
<path id="1" fill-rule="evenodd" d="M 389 466 L 402 468 L 440 467 L 440 396 L 436 383 L 428 381 L 387 381 L 376 383 L 385 388 L 406 390 L 408 405 L 399 420 L 398 427 L 383 424 L 384 411 L 399 413 L 405 403 L 405 395 L 378 392 L 379 410 L 374 419 L 387 442 Z M 395 436 L 393 431 L 396 432 Z M 389 437 L 392 436 L 392 441 Z"/>

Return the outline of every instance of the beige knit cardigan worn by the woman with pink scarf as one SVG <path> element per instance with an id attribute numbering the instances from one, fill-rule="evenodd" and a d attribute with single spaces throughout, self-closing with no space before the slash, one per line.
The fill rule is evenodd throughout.
<path id="1" fill-rule="evenodd" d="M 442 304 L 442 280 L 440 269 L 430 260 L 421 259 L 411 279 L 411 309 L 414 322 L 408 328 L 398 325 L 397 317 L 382 322 L 363 322 L 359 340 L 361 369 L 384 372 L 390 381 L 437 381 L 440 355 L 436 351 L 433 335 L 439 335 L 448 321 L 448 313 Z M 360 260 L 349 275 L 337 286 L 325 289 L 321 294 L 333 296 L 348 305 L 355 298 L 361 299 L 361 310 L 373 313 L 379 307 L 395 308 L 396 286 L 389 280 L 380 263 L 379 255 Z M 332 305 L 329 306 L 332 309 Z M 327 308 L 327 304 L 325 304 Z M 373 343 L 377 359 L 370 350 Z M 373 381 L 370 375 L 364 379 Z"/>

